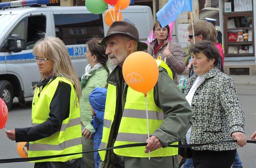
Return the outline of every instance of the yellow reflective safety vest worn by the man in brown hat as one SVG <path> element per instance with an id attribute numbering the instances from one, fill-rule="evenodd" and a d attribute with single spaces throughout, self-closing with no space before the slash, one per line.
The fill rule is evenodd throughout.
<path id="1" fill-rule="evenodd" d="M 156 60 L 157 65 L 165 68 L 172 78 L 170 68 L 162 61 Z M 147 105 L 149 115 L 150 133 L 153 133 L 163 121 L 163 112 L 157 107 L 154 101 L 153 89 L 147 93 Z M 99 149 L 105 149 L 109 142 L 111 125 L 115 115 L 116 107 L 116 86 L 109 84 L 106 98 L 103 136 Z M 130 87 L 127 89 L 125 109 L 120 122 L 118 135 L 114 146 L 143 143 L 147 139 L 147 123 L 146 123 L 146 103 L 144 94 L 139 93 Z M 131 124 L 132 123 L 132 124 Z M 177 144 L 175 142 L 174 144 Z M 124 149 L 114 149 L 117 155 L 131 157 L 148 157 L 144 153 L 145 147 L 132 147 Z M 101 160 L 105 160 L 106 151 L 99 151 Z M 176 155 L 175 148 L 160 148 L 150 153 L 152 157 Z"/>

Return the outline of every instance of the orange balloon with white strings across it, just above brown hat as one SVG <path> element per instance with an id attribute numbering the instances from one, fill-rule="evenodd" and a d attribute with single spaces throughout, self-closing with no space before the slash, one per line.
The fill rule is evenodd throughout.
<path id="1" fill-rule="evenodd" d="M 123 19 L 122 12 L 121 11 L 118 12 L 118 11 L 119 10 L 111 8 L 105 12 L 104 22 L 106 23 L 106 25 L 110 26 L 114 21 L 122 21 Z"/>

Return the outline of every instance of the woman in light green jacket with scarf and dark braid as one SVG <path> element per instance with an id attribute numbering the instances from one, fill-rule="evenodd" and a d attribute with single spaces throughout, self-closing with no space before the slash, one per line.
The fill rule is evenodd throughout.
<path id="1" fill-rule="evenodd" d="M 86 60 L 88 65 L 85 67 L 85 73 L 81 79 L 82 96 L 79 100 L 82 130 L 83 152 L 94 150 L 93 133 L 95 129 L 91 125 L 91 107 L 89 94 L 96 87 L 105 87 L 106 79 L 112 71 L 108 62 L 108 55 L 105 54 L 106 47 L 98 45 L 100 38 L 92 38 L 86 44 Z M 94 153 L 84 153 L 83 161 L 86 168 L 94 168 Z"/>

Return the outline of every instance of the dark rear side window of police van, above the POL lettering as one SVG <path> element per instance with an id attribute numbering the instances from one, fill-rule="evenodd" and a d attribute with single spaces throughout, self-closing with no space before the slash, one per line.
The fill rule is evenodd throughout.
<path id="1" fill-rule="evenodd" d="M 102 14 L 54 14 L 55 33 L 66 45 L 85 44 L 104 37 Z"/>

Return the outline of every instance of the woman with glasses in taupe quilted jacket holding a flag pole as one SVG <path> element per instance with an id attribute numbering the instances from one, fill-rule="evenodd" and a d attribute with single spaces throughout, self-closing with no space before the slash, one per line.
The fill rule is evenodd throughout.
<path id="1" fill-rule="evenodd" d="M 178 85 L 177 74 L 181 74 L 185 70 L 181 45 L 174 41 L 168 41 L 170 35 L 168 25 L 162 28 L 159 21 L 156 21 L 153 32 L 156 39 L 148 45 L 147 53 L 152 55 L 155 59 L 166 60 L 166 64 L 172 70 L 173 81 Z"/>

